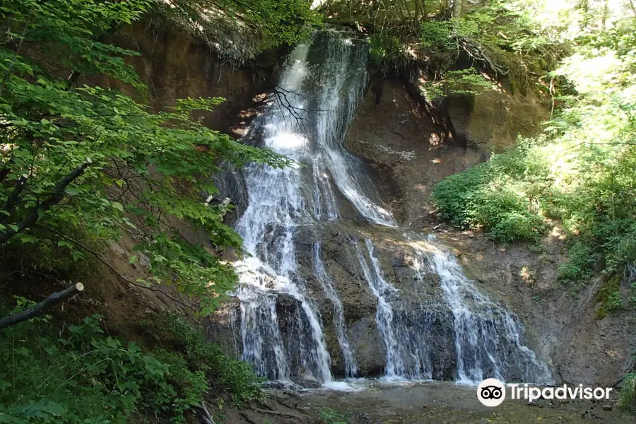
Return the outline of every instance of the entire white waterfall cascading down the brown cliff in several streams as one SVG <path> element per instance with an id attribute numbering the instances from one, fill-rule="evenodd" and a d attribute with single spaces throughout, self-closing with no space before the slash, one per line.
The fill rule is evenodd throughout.
<path id="1" fill-rule="evenodd" d="M 310 245 L 308 270 L 299 265 L 302 249 L 296 237 L 307 228 L 319 235 L 323 225 L 341 219 L 343 201 L 372 225 L 396 226 L 360 160 L 343 148 L 365 88 L 367 57 L 365 42 L 351 34 L 317 33 L 311 44 L 301 44 L 290 54 L 278 93 L 255 126 L 260 131 L 251 134 L 257 143 L 295 163 L 285 169 L 250 165 L 242 171 L 247 208 L 236 223 L 251 255 L 236 264 L 242 358 L 272 380 L 329 384 L 333 379 L 318 293 L 308 285 L 310 280 L 317 281 L 333 307 L 345 375 L 357 372 L 338 281 L 326 269 L 321 241 Z M 377 298 L 375 320 L 386 350 L 386 377 L 550 380 L 546 365 L 522 345 L 514 315 L 479 293 L 435 240 L 405 236 L 401 242 L 416 256 L 417 278 L 440 276 L 443 295 L 435 304 L 417 295 L 406 299 L 391 285 L 371 240 L 365 240 L 364 249 L 357 237 L 348 240 L 360 275 Z M 440 334 L 454 341 L 454 375 L 440 374 Z"/>

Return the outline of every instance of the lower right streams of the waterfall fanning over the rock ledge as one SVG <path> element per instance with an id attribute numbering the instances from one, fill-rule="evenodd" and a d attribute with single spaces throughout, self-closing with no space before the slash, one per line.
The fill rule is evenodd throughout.
<path id="1" fill-rule="evenodd" d="M 501 381 L 510 377 L 524 382 L 552 381 L 546 364 L 521 343 L 522 327 L 516 317 L 480 293 L 466 278 L 454 255 L 437 245 L 435 236 L 418 241 L 409 235 L 405 238 L 415 254 L 416 278 L 421 279 L 427 273 L 440 278 L 443 298 L 453 319 L 459 382 L 481 382 L 488 377 Z M 378 298 L 377 324 L 387 345 L 385 375 L 389 379 L 431 379 L 435 352 L 428 349 L 432 343 L 430 317 L 425 310 L 404 307 L 404 299 L 391 295 L 396 289 L 384 280 L 371 240 L 365 240 L 365 245 L 373 272 L 357 244 L 355 247 L 365 278 Z M 396 314 L 396 310 L 401 314 Z"/>

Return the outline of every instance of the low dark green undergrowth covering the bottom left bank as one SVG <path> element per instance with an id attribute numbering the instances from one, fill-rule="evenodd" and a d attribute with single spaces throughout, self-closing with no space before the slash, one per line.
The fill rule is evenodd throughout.
<path id="1" fill-rule="evenodd" d="M 150 348 L 109 336 L 101 318 L 56 326 L 42 317 L 0 331 L 0 423 L 184 423 L 211 389 L 239 404 L 261 396 L 247 363 L 179 317 L 149 323 L 160 331 Z"/>

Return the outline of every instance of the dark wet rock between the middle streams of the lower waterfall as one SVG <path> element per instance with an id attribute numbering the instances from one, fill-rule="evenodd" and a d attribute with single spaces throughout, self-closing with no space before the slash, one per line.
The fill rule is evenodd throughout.
<path id="1" fill-rule="evenodd" d="M 331 355 L 334 375 L 345 374 L 341 349 L 338 346 L 334 305 L 324 298 L 312 275 L 311 249 L 321 240 L 321 256 L 326 272 L 334 281 L 334 288 L 342 302 L 346 335 L 351 345 L 358 375 L 365 377 L 384 374 L 387 365 L 387 346 L 377 326 L 377 298 L 365 281 L 360 263 L 351 248 L 351 238 L 343 228 L 299 230 L 295 238 L 297 259 L 307 274 L 307 291 L 319 304 L 325 341 Z M 413 257 L 408 247 L 387 242 L 375 252 L 387 281 L 399 289 L 388 299 L 394 311 L 393 322 L 399 334 L 406 335 L 403 356 L 411 358 L 407 369 L 431 370 L 434 379 L 456 379 L 454 358 L 453 315 L 444 301 L 440 277 L 433 273 L 416 275 Z M 417 352 L 413 356 L 406 351 Z"/>

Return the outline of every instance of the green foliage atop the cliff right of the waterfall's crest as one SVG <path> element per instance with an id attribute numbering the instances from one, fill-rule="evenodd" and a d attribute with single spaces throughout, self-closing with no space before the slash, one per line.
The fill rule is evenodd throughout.
<path id="1" fill-rule="evenodd" d="M 461 7 L 451 11 L 449 7 L 457 3 Z M 462 63 L 495 76 L 509 76 L 513 88 L 546 91 L 539 78 L 555 69 L 565 48 L 562 33 L 536 18 L 544 7 L 541 1 L 514 0 L 493 0 L 478 7 L 466 1 L 343 0 L 326 2 L 322 10 L 330 21 L 355 22 L 372 33 L 372 64 L 379 69 L 417 64 L 427 69 L 433 82 L 439 82 L 452 77 L 448 71 Z M 462 8 L 466 10 L 460 13 Z M 469 59 L 469 64 L 458 62 L 461 57 L 463 62 Z M 483 78 L 471 82 L 485 84 Z M 432 87 L 426 90 L 431 99 L 449 94 L 433 92 Z"/>

